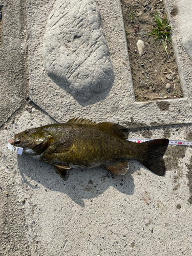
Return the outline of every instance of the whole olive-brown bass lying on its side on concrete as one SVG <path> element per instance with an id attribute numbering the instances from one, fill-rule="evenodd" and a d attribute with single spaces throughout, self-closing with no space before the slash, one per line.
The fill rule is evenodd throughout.
<path id="1" fill-rule="evenodd" d="M 163 176 L 166 171 L 163 155 L 169 140 L 138 144 L 128 141 L 128 136 L 128 129 L 120 124 L 74 117 L 66 123 L 48 124 L 15 134 L 11 144 L 23 147 L 23 153 L 36 160 L 54 165 L 62 178 L 70 168 L 98 166 L 113 174 L 125 175 L 130 159 L 139 160 Z"/>

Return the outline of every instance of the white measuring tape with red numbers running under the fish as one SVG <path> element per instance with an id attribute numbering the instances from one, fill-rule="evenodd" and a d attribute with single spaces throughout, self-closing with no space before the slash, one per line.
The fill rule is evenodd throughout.
<path id="1" fill-rule="evenodd" d="M 10 143 L 13 141 L 14 138 L 11 138 L 8 140 L 8 148 L 10 151 L 13 151 L 19 155 L 23 154 L 23 147 L 13 146 Z M 149 141 L 151 139 L 127 139 L 129 141 L 133 141 L 136 143 L 142 143 L 145 141 Z M 189 140 L 169 140 L 169 145 L 186 145 L 186 146 L 192 146 L 192 141 Z"/>

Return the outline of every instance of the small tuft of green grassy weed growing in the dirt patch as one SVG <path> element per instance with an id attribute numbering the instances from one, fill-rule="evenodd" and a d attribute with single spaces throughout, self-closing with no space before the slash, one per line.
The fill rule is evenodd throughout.
<path id="1" fill-rule="evenodd" d="M 156 26 L 156 28 L 152 28 L 151 29 L 152 33 L 148 34 L 148 35 L 152 35 L 152 36 L 156 37 L 153 41 L 160 39 L 158 49 L 162 42 L 164 49 L 166 51 L 166 54 L 168 56 L 166 42 L 169 42 L 170 44 L 172 43 L 172 38 L 170 37 L 170 30 L 172 30 L 172 27 L 168 23 L 167 14 L 165 16 L 165 19 L 161 19 L 161 17 L 159 16 L 159 13 L 157 11 L 156 11 L 156 14 L 157 14 L 157 16 L 154 14 L 153 14 L 153 16 L 156 19 L 157 26 Z"/>

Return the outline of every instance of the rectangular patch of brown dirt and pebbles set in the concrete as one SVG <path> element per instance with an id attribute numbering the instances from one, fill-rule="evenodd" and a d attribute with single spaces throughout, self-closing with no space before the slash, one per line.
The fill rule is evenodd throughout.
<path id="1" fill-rule="evenodd" d="M 168 58 L 163 45 L 158 49 L 159 41 L 154 42 L 154 38 L 147 35 L 156 26 L 155 10 L 165 18 L 163 2 L 121 0 L 121 7 L 136 100 L 183 97 L 172 45 L 167 44 Z M 175 15 L 177 10 L 174 9 L 172 13 Z M 144 42 L 142 55 L 138 51 L 138 40 Z"/>

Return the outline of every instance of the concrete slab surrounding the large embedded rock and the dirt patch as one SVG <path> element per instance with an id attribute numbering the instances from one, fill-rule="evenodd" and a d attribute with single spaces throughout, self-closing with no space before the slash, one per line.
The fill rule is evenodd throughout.
<path id="1" fill-rule="evenodd" d="M 54 119 L 62 122 L 65 118 L 82 116 L 98 121 L 142 123 L 145 126 L 170 123 L 190 123 L 191 119 L 191 61 L 180 41 L 176 16 L 170 15 L 174 1 L 168 2 L 168 14 L 173 24 L 173 42 L 177 58 L 184 98 L 135 102 L 129 56 L 127 53 L 123 18 L 119 0 L 96 3 L 100 9 L 103 29 L 110 50 L 115 74 L 112 88 L 81 103 L 71 94 L 57 86 L 46 74 L 42 62 L 43 38 L 46 24 L 55 1 L 27 1 L 29 33 L 29 87 L 30 98 Z M 39 13 L 41 15 L 39 15 Z M 191 20 L 191 17 L 189 17 Z M 190 22 L 190 21 L 189 21 Z M 147 61 L 147 60 L 146 60 Z M 155 71 L 155 65 L 154 65 Z M 50 104 L 52 102 L 52 104 Z M 164 104 L 167 108 L 164 108 Z M 162 111 L 163 109 L 163 111 Z M 99 113 L 102 113 L 100 115 Z"/>

